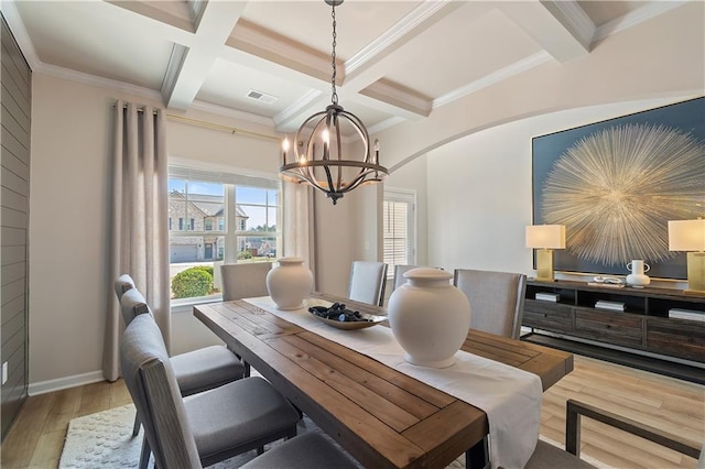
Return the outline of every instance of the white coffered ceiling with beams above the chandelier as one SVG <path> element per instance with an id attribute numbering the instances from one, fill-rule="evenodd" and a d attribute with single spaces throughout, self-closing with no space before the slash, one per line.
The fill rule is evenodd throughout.
<path id="1" fill-rule="evenodd" d="M 336 8 L 340 105 L 371 132 L 679 1 L 367 1 Z M 332 10 L 316 1 L 2 1 L 33 69 L 295 131 L 330 102 Z M 248 97 L 248 95 L 250 97 Z M 254 99 L 259 97 L 259 99 Z"/>

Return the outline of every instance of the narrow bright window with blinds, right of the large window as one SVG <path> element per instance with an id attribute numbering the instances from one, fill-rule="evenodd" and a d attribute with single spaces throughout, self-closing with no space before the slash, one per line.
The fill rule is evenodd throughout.
<path id="1" fill-rule="evenodd" d="M 394 265 L 415 264 L 414 194 L 398 189 L 384 190 L 383 260 L 389 265 L 387 276 L 394 275 Z"/>

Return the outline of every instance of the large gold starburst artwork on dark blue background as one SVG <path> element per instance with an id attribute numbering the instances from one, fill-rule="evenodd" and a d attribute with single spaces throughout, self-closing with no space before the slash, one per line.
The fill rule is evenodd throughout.
<path id="1" fill-rule="evenodd" d="M 668 221 L 705 217 L 705 97 L 532 139 L 533 222 L 565 225 L 555 270 L 685 279 Z"/>

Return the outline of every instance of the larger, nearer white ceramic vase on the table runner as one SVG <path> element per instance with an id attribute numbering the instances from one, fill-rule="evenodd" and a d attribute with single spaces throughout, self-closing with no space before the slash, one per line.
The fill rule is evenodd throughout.
<path id="1" fill-rule="evenodd" d="M 470 327 L 470 303 L 440 269 L 419 268 L 404 273 L 406 283 L 392 292 L 387 313 L 394 338 L 413 364 L 446 368 Z"/>

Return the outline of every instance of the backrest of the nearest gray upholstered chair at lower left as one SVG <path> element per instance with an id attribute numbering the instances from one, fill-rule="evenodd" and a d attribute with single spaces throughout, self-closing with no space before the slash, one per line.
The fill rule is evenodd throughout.
<path id="1" fill-rule="evenodd" d="M 152 316 L 139 315 L 126 328 L 120 360 L 155 466 L 200 468 L 178 384 Z"/>

